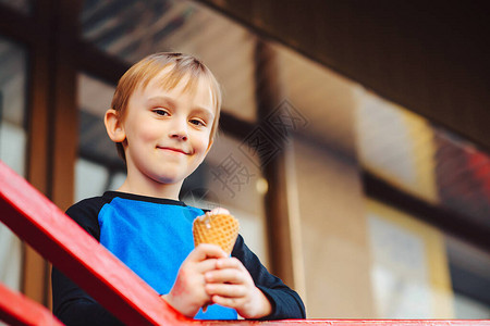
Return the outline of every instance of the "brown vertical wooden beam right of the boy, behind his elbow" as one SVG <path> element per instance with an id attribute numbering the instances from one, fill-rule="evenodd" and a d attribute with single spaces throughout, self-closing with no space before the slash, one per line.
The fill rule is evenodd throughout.
<path id="1" fill-rule="evenodd" d="M 285 139 L 271 128 L 268 117 L 281 102 L 281 83 L 274 51 L 259 40 L 255 50 L 255 89 L 258 126 L 246 138 L 260 159 L 264 177 L 269 184 L 266 193 L 266 218 L 271 271 L 285 284 L 295 288 L 291 248 L 290 212 L 286 193 Z"/>

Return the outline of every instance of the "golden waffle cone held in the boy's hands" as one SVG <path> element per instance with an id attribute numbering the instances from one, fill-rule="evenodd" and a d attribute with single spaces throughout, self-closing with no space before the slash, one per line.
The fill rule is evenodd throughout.
<path id="1" fill-rule="evenodd" d="M 230 214 L 209 214 L 196 217 L 193 223 L 194 246 L 218 244 L 231 254 L 238 237 L 238 221 Z"/>

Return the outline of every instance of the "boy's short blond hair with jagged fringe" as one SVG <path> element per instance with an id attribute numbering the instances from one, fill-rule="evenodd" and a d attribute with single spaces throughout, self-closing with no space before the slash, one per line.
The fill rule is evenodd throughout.
<path id="1" fill-rule="evenodd" d="M 152 80 L 161 71 L 169 67 L 170 71 L 160 82 L 164 89 L 173 89 L 181 80 L 186 78 L 184 91 L 195 91 L 200 78 L 208 82 L 216 114 L 212 122 L 210 139 L 212 139 L 218 129 L 218 122 L 221 110 L 221 89 L 218 80 L 211 71 L 197 58 L 175 52 L 160 52 L 148 55 L 134 64 L 121 77 L 112 98 L 111 108 L 115 110 L 118 118 L 124 120 L 127 104 L 133 92 L 142 87 L 145 89 L 148 83 Z M 117 142 L 119 155 L 125 161 L 124 148 L 121 142 Z"/>

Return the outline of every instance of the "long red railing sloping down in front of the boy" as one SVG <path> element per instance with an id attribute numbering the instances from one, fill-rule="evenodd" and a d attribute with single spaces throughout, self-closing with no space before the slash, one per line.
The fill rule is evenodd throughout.
<path id="1" fill-rule="evenodd" d="M 490 325 L 490 321 L 220 322 L 186 318 L 168 305 L 136 274 L 1 161 L 0 220 L 127 325 Z M 3 296 L 2 292 L 0 294 Z M 23 299 L 15 301 L 14 304 L 32 305 L 33 302 Z M 4 303 L 4 300 L 1 302 Z M 5 304 L 0 304 L 0 310 L 2 310 L 0 317 L 5 315 L 12 317 L 15 314 L 11 312 L 17 311 L 5 308 Z M 45 318 L 45 315 L 42 314 L 41 317 Z M 28 325 L 21 321 L 19 324 Z M 56 325 L 54 322 L 52 325 Z"/>

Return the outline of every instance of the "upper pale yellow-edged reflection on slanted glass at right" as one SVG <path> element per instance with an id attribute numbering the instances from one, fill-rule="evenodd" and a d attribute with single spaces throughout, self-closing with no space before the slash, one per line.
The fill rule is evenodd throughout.
<path id="1" fill-rule="evenodd" d="M 427 120 L 365 92 L 357 110 L 360 161 L 391 185 L 438 203 L 436 145 Z"/>

